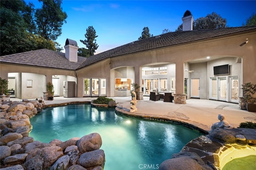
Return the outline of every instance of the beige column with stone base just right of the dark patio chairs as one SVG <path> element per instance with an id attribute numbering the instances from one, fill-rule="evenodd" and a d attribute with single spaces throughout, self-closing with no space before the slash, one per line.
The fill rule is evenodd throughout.
<path id="1" fill-rule="evenodd" d="M 177 62 L 175 66 L 176 92 L 174 93 L 174 103 L 186 104 L 186 94 L 184 93 L 184 63 Z"/>

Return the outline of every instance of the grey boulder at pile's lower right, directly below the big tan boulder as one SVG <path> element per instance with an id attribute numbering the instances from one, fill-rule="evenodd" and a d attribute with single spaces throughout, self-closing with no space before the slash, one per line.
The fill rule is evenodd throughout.
<path id="1" fill-rule="evenodd" d="M 81 154 L 78 159 L 78 163 L 84 168 L 90 168 L 94 166 L 104 166 L 105 153 L 104 150 L 98 149 L 91 152 L 85 152 Z"/>

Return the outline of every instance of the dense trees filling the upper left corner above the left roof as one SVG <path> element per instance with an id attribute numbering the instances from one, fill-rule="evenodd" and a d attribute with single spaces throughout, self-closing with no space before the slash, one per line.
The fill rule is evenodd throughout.
<path id="1" fill-rule="evenodd" d="M 51 2 L 57 1 L 51 0 Z M 47 3 L 50 3 L 50 0 L 47 1 Z M 58 1 L 58 4 L 60 3 L 61 1 Z M 54 28 L 53 30 L 60 30 L 60 32 L 58 32 L 58 34 L 52 32 L 51 36 L 45 38 L 37 34 L 39 28 L 37 23 L 39 19 L 34 16 L 35 9 L 32 3 L 26 4 L 24 0 L 1 0 L 0 6 L 0 55 L 43 48 L 61 50 L 60 45 L 57 42 L 53 42 L 53 40 L 56 40 L 55 38 L 61 34 L 62 25 L 57 21 L 58 17 L 54 18 L 56 21 L 54 21 L 53 24 L 45 25 L 45 28 L 47 30 L 48 28 L 59 26 L 58 29 Z M 55 7 L 56 6 L 54 6 L 54 8 Z M 52 10 L 55 11 L 56 9 L 52 8 Z M 56 13 L 48 10 L 48 14 L 52 16 Z M 46 18 L 46 20 L 48 19 Z M 56 25 L 56 22 L 59 25 Z"/>

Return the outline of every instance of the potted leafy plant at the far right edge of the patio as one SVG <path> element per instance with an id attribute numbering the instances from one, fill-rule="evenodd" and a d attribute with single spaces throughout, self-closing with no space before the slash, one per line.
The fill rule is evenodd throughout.
<path id="1" fill-rule="evenodd" d="M 249 112 L 256 112 L 256 99 L 254 99 L 256 84 L 251 82 L 244 83 L 241 89 L 243 90 L 243 97 L 241 98 L 246 103 L 246 110 Z"/>

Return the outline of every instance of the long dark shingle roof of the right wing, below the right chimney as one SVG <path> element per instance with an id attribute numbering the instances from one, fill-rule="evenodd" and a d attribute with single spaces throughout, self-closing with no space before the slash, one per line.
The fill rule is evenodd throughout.
<path id="1" fill-rule="evenodd" d="M 108 57 L 115 57 L 118 55 L 124 55 L 128 53 L 134 53 L 134 52 L 154 49 L 158 47 L 176 45 L 176 44 L 185 43 L 185 42 L 193 42 L 196 40 L 203 40 L 203 39 L 214 38 L 218 36 L 246 32 L 251 30 L 255 32 L 256 26 L 169 32 L 159 36 L 154 36 L 151 38 L 146 38 L 143 40 L 138 40 L 132 43 L 128 43 L 120 47 L 116 47 L 114 49 L 110 49 L 108 51 L 90 56 L 86 59 L 86 61 L 84 61 L 84 63 L 80 65 L 79 68 L 85 67 L 92 63 L 96 63 Z"/>

